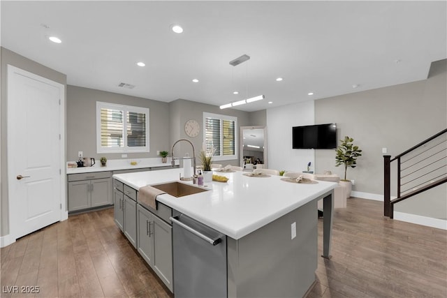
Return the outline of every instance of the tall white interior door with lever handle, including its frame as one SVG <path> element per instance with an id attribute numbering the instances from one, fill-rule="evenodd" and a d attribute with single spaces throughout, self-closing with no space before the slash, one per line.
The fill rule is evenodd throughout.
<path id="1" fill-rule="evenodd" d="M 12 240 L 62 219 L 64 85 L 8 66 L 8 194 Z"/>

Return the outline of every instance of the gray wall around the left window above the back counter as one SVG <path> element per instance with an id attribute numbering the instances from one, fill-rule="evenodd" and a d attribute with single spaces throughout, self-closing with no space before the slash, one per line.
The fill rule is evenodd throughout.
<path id="1" fill-rule="evenodd" d="M 127 153 L 126 158 L 156 157 L 170 146 L 169 104 L 161 101 L 67 86 L 67 161 L 77 161 L 78 151 L 95 159 L 122 158 L 122 154 L 96 154 L 96 101 L 149 108 L 149 153 Z"/>

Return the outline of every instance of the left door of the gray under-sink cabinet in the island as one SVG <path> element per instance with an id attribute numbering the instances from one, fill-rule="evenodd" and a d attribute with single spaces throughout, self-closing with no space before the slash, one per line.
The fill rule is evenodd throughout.
<path id="1" fill-rule="evenodd" d="M 137 244 L 138 253 L 152 267 L 152 256 L 154 253 L 154 231 L 152 229 L 152 218 L 154 216 L 138 205 L 137 207 Z"/>

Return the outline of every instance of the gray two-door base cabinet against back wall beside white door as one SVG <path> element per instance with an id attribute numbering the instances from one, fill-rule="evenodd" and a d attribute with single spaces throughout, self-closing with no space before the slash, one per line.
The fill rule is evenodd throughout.
<path id="1" fill-rule="evenodd" d="M 111 172 L 68 174 L 68 211 L 113 204 Z"/>

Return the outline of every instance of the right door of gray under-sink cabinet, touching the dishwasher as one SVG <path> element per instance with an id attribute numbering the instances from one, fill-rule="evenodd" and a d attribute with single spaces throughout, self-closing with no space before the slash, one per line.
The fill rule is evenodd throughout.
<path id="1" fill-rule="evenodd" d="M 154 256 L 152 269 L 168 289 L 173 291 L 173 227 L 157 216 L 152 216 Z"/>

